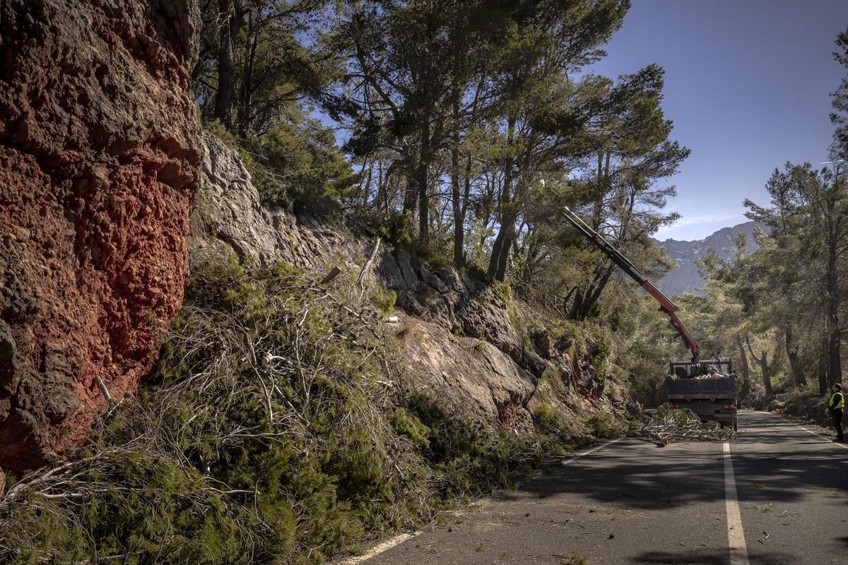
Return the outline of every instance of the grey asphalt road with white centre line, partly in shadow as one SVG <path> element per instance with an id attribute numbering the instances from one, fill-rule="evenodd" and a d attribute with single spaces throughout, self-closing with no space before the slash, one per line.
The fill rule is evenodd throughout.
<path id="1" fill-rule="evenodd" d="M 616 441 L 355 562 L 848 564 L 848 446 L 767 413 L 739 429 Z"/>

